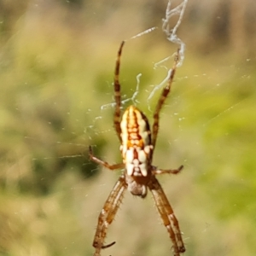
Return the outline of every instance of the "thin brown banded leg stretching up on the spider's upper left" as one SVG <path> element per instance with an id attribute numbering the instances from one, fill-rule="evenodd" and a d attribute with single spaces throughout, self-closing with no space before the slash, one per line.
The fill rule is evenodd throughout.
<path id="1" fill-rule="evenodd" d="M 120 127 L 120 115 L 121 115 L 121 93 L 120 93 L 120 84 L 119 84 L 119 67 L 120 67 L 120 57 L 122 55 L 122 49 L 125 44 L 123 41 L 120 44 L 117 59 L 115 62 L 114 68 L 114 79 L 113 79 L 113 90 L 114 90 L 114 101 L 115 101 L 115 110 L 113 115 L 113 125 L 114 129 L 119 137 L 119 142 L 122 142 L 121 139 L 121 127 Z"/>

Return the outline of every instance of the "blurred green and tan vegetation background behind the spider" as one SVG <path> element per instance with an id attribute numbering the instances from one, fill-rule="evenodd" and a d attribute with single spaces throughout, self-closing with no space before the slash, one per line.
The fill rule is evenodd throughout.
<path id="1" fill-rule="evenodd" d="M 120 172 L 91 163 L 88 146 L 121 160 L 110 105 L 116 53 L 158 26 L 128 40 L 120 75 L 125 100 L 142 73 L 137 107 L 152 114 L 160 91 L 147 98 L 172 59 L 154 63 L 177 49 L 160 29 L 166 4 L 0 0 L 0 255 L 94 252 Z M 256 255 L 255 11 L 252 0 L 194 0 L 178 30 L 185 60 L 161 113 L 154 165 L 185 166 L 159 178 L 187 256 Z M 102 255 L 172 255 L 150 195 L 126 193 L 107 241 L 117 243 Z"/>

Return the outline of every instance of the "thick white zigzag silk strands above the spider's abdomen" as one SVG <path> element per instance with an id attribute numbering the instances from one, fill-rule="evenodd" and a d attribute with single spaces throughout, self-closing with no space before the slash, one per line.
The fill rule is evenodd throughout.
<path id="1" fill-rule="evenodd" d="M 166 17 L 162 20 L 161 32 L 163 32 L 166 35 L 166 39 L 170 42 L 172 47 L 174 46 L 176 49 L 179 49 L 180 59 L 179 59 L 179 62 L 177 64 L 177 67 L 182 66 L 183 60 L 184 60 L 184 57 L 185 57 L 185 44 L 183 43 L 183 40 L 177 36 L 177 29 L 182 23 L 183 15 L 184 15 L 184 11 L 185 11 L 187 3 L 188 3 L 188 0 L 184 0 L 184 1 L 182 1 L 182 3 L 179 3 L 176 7 L 172 8 L 172 1 L 169 1 L 167 3 L 167 6 L 166 6 Z M 172 19 L 174 19 L 174 24 L 173 24 L 173 22 L 171 22 Z M 131 40 L 138 40 L 139 38 L 148 35 L 148 33 L 154 34 L 154 32 L 156 32 L 157 30 L 159 30 L 159 27 L 157 27 L 157 26 L 150 27 L 150 28 L 148 28 L 147 30 L 145 30 L 143 32 L 137 33 L 136 35 L 132 36 L 131 38 L 126 39 L 125 40 L 125 41 L 127 41 L 126 44 L 129 44 L 131 42 Z M 176 49 L 174 49 L 174 52 L 173 52 L 172 55 L 169 55 L 169 56 L 165 57 L 162 60 L 154 61 L 154 64 L 152 66 L 153 70 L 163 68 L 166 71 L 166 78 L 163 79 L 159 84 L 152 84 L 151 86 L 149 86 L 148 89 L 143 90 L 143 92 L 142 92 L 142 89 L 141 89 L 140 85 L 142 83 L 143 73 L 138 73 L 137 76 L 136 76 L 137 84 L 136 84 L 135 88 L 133 89 L 134 92 L 132 93 L 132 95 L 131 96 L 124 96 L 124 95 L 122 96 L 122 101 L 121 101 L 122 106 L 123 106 L 122 108 L 124 108 L 125 104 L 127 104 L 127 103 L 139 106 L 141 101 L 138 100 L 137 96 L 139 94 L 142 94 L 142 93 L 144 94 L 145 93 L 147 95 L 147 99 L 146 99 L 147 103 L 146 104 L 148 106 L 148 111 L 150 113 L 152 113 L 151 107 L 154 105 L 152 100 L 153 100 L 154 96 L 157 96 L 157 97 L 159 96 L 160 90 L 163 88 L 163 86 L 166 85 L 166 82 L 167 82 L 167 80 L 169 78 L 169 75 L 171 73 L 170 66 L 168 64 L 166 64 L 166 62 L 167 61 L 173 62 L 174 57 L 175 57 L 176 52 L 177 52 Z M 122 58 L 125 58 L 125 57 L 122 56 Z M 122 86 L 124 86 L 124 85 L 122 85 Z M 111 87 L 109 89 L 111 91 L 113 90 L 113 88 L 111 88 Z M 104 115 L 104 112 L 108 109 L 111 109 L 112 112 L 113 112 L 114 106 L 115 106 L 115 102 L 110 102 L 110 103 L 103 104 L 101 106 L 102 116 Z M 126 201 L 126 198 L 125 198 L 125 201 Z M 126 201 L 125 204 L 129 205 L 129 201 Z M 151 205 L 150 207 L 152 208 L 152 202 L 150 202 L 150 205 Z M 159 219 L 159 223 L 161 224 L 160 219 Z M 149 227 L 148 227 L 148 229 L 149 229 Z M 185 238 L 184 241 L 186 242 L 187 239 L 188 238 Z M 168 237 L 166 237 L 166 242 L 167 243 L 170 242 L 168 240 Z M 136 255 L 136 253 L 134 253 L 134 254 Z"/>

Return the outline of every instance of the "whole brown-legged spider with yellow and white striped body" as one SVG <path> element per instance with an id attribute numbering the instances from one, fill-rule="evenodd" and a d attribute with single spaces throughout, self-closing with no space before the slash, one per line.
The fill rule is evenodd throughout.
<path id="1" fill-rule="evenodd" d="M 154 146 L 159 130 L 160 110 L 171 90 L 173 77 L 177 67 L 179 51 L 177 50 L 177 55 L 170 72 L 168 83 L 162 90 L 160 99 L 154 110 L 154 122 L 151 132 L 147 117 L 135 106 L 131 105 L 130 107 L 126 108 L 125 113 L 123 114 L 122 118 L 120 118 L 121 93 L 119 84 L 119 66 L 124 44 L 125 41 L 123 41 L 119 46 L 113 81 L 115 99 L 113 125 L 121 144 L 120 151 L 122 154 L 123 163 L 109 165 L 108 162 L 96 158 L 92 152 L 92 148 L 89 148 L 90 160 L 93 160 L 97 164 L 110 170 L 121 168 L 125 170 L 119 177 L 117 183 L 115 183 L 110 195 L 108 195 L 108 199 L 98 217 L 96 234 L 93 241 L 93 247 L 96 248 L 94 256 L 100 256 L 102 249 L 111 247 L 115 243 L 115 241 L 113 241 L 107 245 L 104 245 L 104 240 L 107 236 L 108 226 L 112 223 L 113 218 L 119 209 L 126 189 L 128 189 L 132 195 L 137 195 L 142 198 L 145 198 L 148 193 L 148 189 L 150 190 L 158 212 L 160 213 L 160 218 L 162 218 L 163 224 L 166 226 L 172 240 L 173 253 L 175 256 L 179 256 L 180 253 L 185 252 L 182 234 L 179 230 L 177 218 L 174 215 L 172 206 L 167 200 L 166 194 L 155 175 L 163 173 L 177 174 L 183 169 L 183 166 L 180 166 L 177 169 L 163 170 L 156 166 L 152 166 L 151 164 Z"/>

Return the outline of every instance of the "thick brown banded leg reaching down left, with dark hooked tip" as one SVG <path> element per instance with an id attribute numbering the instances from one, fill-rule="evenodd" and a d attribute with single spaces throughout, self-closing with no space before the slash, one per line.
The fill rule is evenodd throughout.
<path id="1" fill-rule="evenodd" d="M 119 209 L 120 203 L 124 197 L 126 187 L 125 177 L 122 175 L 119 177 L 117 183 L 115 183 L 110 195 L 108 195 L 108 199 L 105 202 L 102 208 L 102 212 L 98 218 L 96 234 L 92 244 L 93 247 L 96 248 L 94 256 L 100 256 L 101 249 L 111 247 L 115 243 L 115 241 L 113 241 L 108 245 L 103 245 L 107 235 L 108 225 L 112 223 L 113 218 Z"/>

